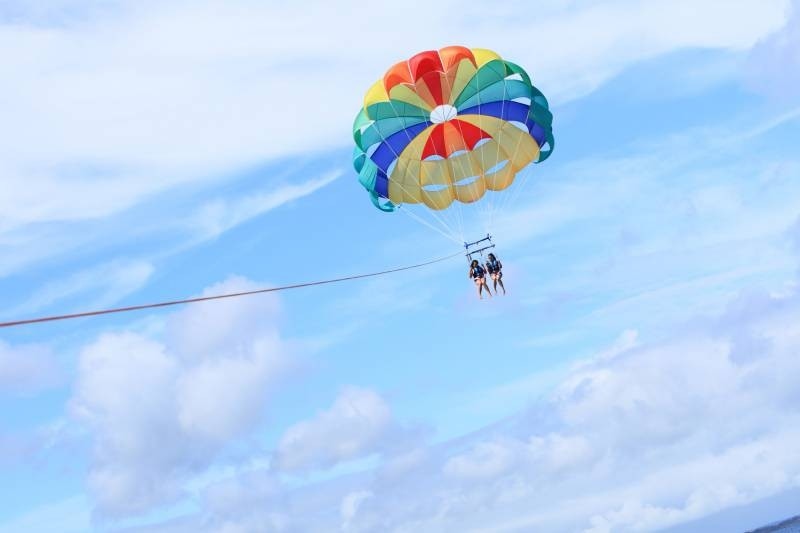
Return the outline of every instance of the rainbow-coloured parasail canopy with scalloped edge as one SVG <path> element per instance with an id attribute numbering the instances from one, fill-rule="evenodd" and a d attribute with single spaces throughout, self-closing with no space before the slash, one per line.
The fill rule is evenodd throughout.
<path id="1" fill-rule="evenodd" d="M 553 146 L 553 115 L 519 66 L 448 46 L 401 61 L 364 98 L 354 166 L 373 203 L 447 208 L 500 191 Z"/>

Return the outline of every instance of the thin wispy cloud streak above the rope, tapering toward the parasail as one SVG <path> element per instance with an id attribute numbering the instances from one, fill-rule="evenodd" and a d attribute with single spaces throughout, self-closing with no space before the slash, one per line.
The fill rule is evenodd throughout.
<path id="1" fill-rule="evenodd" d="M 301 169 L 296 170 L 299 172 Z M 0 277 L 76 250 L 91 250 L 103 257 L 102 252 L 106 249 L 118 249 L 134 241 L 137 244 L 146 243 L 148 239 L 155 241 L 146 252 L 139 252 L 140 259 L 105 260 L 76 272 L 67 270 L 62 279 L 46 280 L 33 293 L 24 295 L 22 302 L 8 305 L 3 314 L 28 315 L 53 304 L 63 306 L 78 301 L 82 308 L 109 306 L 144 288 L 157 265 L 168 257 L 313 194 L 338 176 L 339 172 L 328 172 L 299 183 L 260 185 L 233 194 L 214 195 L 214 199 L 208 199 L 208 191 L 201 190 L 190 195 L 203 202 L 199 207 L 195 207 L 195 202 L 184 201 L 188 205 L 180 201 L 157 202 L 161 209 L 171 213 L 164 219 L 153 218 L 151 211 L 159 212 L 159 206 L 153 205 L 124 216 L 110 217 L 104 224 L 88 230 L 83 224 L 74 227 L 69 224 L 46 225 L 2 235 L 0 245 L 10 253 L 0 258 Z M 287 176 L 283 175 L 281 179 L 285 181 Z M 9 303 L 12 298 L 9 296 Z"/>

